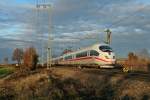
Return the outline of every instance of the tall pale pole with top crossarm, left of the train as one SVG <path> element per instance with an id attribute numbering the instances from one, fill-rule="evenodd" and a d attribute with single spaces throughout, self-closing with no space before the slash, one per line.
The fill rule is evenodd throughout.
<path id="1" fill-rule="evenodd" d="M 49 3 L 46 2 L 46 0 L 37 0 L 37 4 L 36 4 L 36 8 L 38 9 L 38 11 L 40 9 L 43 10 L 47 10 L 47 14 L 48 14 L 48 43 L 47 43 L 47 69 L 49 69 L 52 65 L 51 61 L 52 61 L 52 37 L 51 37 L 51 5 Z M 43 36 L 42 36 L 43 39 Z M 44 47 L 42 47 L 42 64 L 44 65 L 44 52 L 43 52 Z"/>

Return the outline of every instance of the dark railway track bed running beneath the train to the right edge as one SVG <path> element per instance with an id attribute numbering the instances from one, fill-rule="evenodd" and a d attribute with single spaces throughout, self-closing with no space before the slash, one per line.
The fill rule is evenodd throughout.
<path id="1" fill-rule="evenodd" d="M 128 72 L 125 73 L 121 69 L 104 69 L 104 68 L 82 68 L 79 69 L 73 66 L 55 66 L 52 67 L 52 70 L 67 70 L 66 72 L 79 72 L 79 73 L 87 73 L 92 75 L 108 75 L 108 76 L 115 76 L 115 75 L 123 75 L 125 78 L 133 78 L 133 79 L 148 79 L 150 80 L 150 73 L 148 72 Z"/>

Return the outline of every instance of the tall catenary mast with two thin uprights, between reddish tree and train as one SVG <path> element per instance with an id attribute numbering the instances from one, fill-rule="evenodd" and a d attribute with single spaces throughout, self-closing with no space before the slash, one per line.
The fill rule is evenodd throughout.
<path id="1" fill-rule="evenodd" d="M 49 69 L 51 67 L 51 59 L 52 59 L 52 37 L 51 37 L 51 5 L 47 2 L 47 0 L 36 0 L 36 9 L 37 9 L 37 17 L 38 17 L 38 30 L 40 29 L 39 32 L 42 32 L 41 27 L 44 25 L 48 25 L 48 41 L 47 41 L 47 46 L 46 46 L 46 55 L 47 55 L 47 69 Z M 44 25 L 41 25 L 43 22 L 40 22 L 40 18 L 41 17 L 41 11 L 46 11 L 47 10 L 47 17 L 48 17 L 48 21 L 44 22 Z M 45 15 L 45 14 L 43 14 Z M 42 16 L 43 17 L 43 16 Z M 44 16 L 45 17 L 45 16 Z M 47 23 L 48 22 L 48 23 Z M 41 42 L 42 42 L 42 48 L 41 48 L 41 62 L 42 62 L 42 66 L 44 66 L 44 33 L 40 33 L 41 34 Z"/>

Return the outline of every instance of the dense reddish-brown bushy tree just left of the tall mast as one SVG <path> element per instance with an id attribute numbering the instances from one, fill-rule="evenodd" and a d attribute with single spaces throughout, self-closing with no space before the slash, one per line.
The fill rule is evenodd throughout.
<path id="1" fill-rule="evenodd" d="M 23 56 L 24 65 L 31 70 L 35 70 L 38 63 L 38 54 L 34 47 L 27 48 Z"/>

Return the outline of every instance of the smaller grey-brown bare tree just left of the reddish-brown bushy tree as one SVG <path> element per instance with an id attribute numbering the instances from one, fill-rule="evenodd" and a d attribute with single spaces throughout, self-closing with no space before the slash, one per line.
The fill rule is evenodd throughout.
<path id="1" fill-rule="evenodd" d="M 16 48 L 13 52 L 12 60 L 17 61 L 18 65 L 20 65 L 23 60 L 23 49 Z"/>

